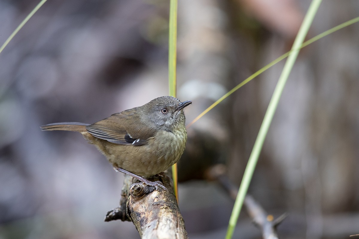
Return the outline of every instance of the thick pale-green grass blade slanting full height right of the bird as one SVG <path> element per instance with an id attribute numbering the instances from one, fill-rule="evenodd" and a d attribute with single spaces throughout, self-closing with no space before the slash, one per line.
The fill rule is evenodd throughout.
<path id="1" fill-rule="evenodd" d="M 271 121 L 273 119 L 275 110 L 278 106 L 280 96 L 282 94 L 285 83 L 290 74 L 290 71 L 293 68 L 294 62 L 297 59 L 300 46 L 303 43 L 304 38 L 306 37 L 306 35 L 308 33 L 309 27 L 311 26 L 311 24 L 313 22 L 314 16 L 317 13 L 317 10 L 318 10 L 320 4 L 321 4 L 321 0 L 313 0 L 311 5 L 309 6 L 308 12 L 307 12 L 306 16 L 304 17 L 302 25 L 300 26 L 297 37 L 294 40 L 292 52 L 288 56 L 288 59 L 285 62 L 283 71 L 279 77 L 278 83 L 273 92 L 272 99 L 269 102 L 267 112 L 264 116 L 261 128 L 259 130 L 256 142 L 253 146 L 252 153 L 250 155 L 250 158 L 248 159 L 247 167 L 244 171 L 241 186 L 239 187 L 236 202 L 234 203 L 232 215 L 230 216 L 230 219 L 229 219 L 227 235 L 225 237 L 226 239 L 232 238 L 234 228 L 237 224 L 239 213 L 241 212 L 241 209 L 242 209 L 244 197 L 246 196 L 248 187 L 250 185 L 252 175 L 253 175 L 254 169 L 256 167 L 258 157 L 259 157 L 259 154 L 262 149 L 262 145 L 264 143 L 264 139 L 267 135 L 267 132 L 268 132 L 269 126 L 271 124 Z"/>

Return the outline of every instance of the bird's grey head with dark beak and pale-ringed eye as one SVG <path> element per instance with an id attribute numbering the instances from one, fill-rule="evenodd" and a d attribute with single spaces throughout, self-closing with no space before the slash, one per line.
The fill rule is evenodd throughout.
<path id="1" fill-rule="evenodd" d="M 156 128 L 173 131 L 174 128 L 185 125 L 183 109 L 192 104 L 192 101 L 181 102 L 173 96 L 161 96 L 141 106 L 146 121 Z"/>

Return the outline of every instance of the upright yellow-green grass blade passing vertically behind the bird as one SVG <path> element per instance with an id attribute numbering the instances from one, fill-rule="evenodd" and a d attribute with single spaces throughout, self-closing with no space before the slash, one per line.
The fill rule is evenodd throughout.
<path id="1" fill-rule="evenodd" d="M 176 63 L 177 63 L 177 0 L 169 5 L 169 39 L 168 39 L 168 85 L 169 95 L 176 97 Z M 177 163 L 172 165 L 173 190 L 178 202 Z"/>

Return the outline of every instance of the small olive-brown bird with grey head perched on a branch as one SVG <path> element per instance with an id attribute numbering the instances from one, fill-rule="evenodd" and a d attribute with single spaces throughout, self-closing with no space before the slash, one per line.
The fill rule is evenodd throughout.
<path id="1" fill-rule="evenodd" d="M 145 177 L 163 172 L 180 159 L 187 142 L 183 109 L 191 103 L 162 96 L 94 124 L 53 123 L 41 129 L 78 131 L 106 156 L 115 170 L 165 189 Z"/>

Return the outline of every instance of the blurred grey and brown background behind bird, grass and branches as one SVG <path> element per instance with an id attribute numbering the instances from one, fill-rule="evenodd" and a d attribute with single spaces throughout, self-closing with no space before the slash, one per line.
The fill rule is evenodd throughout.
<path id="1" fill-rule="evenodd" d="M 0 44 L 36 6 L 0 0 Z M 180 0 L 178 95 L 187 124 L 287 52 L 309 0 Z M 105 223 L 122 178 L 79 133 L 168 94 L 165 0 L 52 0 L 0 54 L 0 238 L 139 238 Z M 359 2 L 323 1 L 308 38 L 358 16 Z M 213 180 L 220 165 L 239 186 L 284 61 L 188 128 L 179 163 L 180 209 L 192 239 L 224 238 L 233 199 Z M 304 48 L 284 89 L 249 193 L 288 218 L 282 238 L 359 233 L 359 25 Z M 211 180 L 212 179 L 212 180 Z M 261 238 L 245 210 L 234 238 Z"/>

